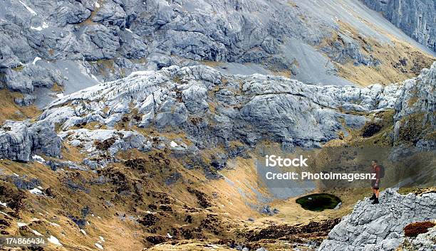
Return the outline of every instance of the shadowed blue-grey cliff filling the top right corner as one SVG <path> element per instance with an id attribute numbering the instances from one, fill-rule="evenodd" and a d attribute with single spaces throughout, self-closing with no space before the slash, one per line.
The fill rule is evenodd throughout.
<path id="1" fill-rule="evenodd" d="M 433 0 L 363 0 L 375 11 L 381 11 L 395 26 L 419 43 L 436 51 L 436 3 Z"/>

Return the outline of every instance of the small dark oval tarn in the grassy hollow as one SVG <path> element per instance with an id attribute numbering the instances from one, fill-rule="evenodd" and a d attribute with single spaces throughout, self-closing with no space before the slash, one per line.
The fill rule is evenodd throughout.
<path id="1" fill-rule="evenodd" d="M 321 212 L 324 209 L 336 208 L 336 205 L 341 203 L 341 199 L 328 193 L 314 193 L 297 198 L 296 203 L 306 210 Z"/>

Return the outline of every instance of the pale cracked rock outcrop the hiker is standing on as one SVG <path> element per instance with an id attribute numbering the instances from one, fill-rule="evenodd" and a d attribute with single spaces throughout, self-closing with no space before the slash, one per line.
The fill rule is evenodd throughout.
<path id="1" fill-rule="evenodd" d="M 403 228 L 413 222 L 436 219 L 436 193 L 402 196 L 388 189 L 380 204 L 368 198 L 342 218 L 318 250 L 395 250 L 404 240 Z"/>

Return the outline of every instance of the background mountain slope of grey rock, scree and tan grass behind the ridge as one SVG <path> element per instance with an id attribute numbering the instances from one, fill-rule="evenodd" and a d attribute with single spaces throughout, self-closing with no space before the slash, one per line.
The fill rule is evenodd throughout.
<path id="1" fill-rule="evenodd" d="M 0 3 L 0 81 L 42 107 L 136 70 L 214 65 L 303 82 L 388 84 L 435 53 L 359 1 L 36 1 Z M 321 11 L 322 10 L 322 11 Z"/>

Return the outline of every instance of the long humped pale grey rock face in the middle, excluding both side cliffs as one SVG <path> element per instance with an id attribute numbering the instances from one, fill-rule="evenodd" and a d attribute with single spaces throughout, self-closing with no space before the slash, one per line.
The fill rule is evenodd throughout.
<path id="1" fill-rule="evenodd" d="M 365 118 L 349 112 L 392 108 L 400 85 L 320 87 L 265 75 L 222 75 L 204 66 L 138 72 L 56 100 L 40 119 L 63 129 L 83 122 L 113 127 L 132 111 L 129 126 L 176 127 L 203 144 L 261 139 L 321 146 Z M 104 109 L 108 107 L 107 109 Z"/>

